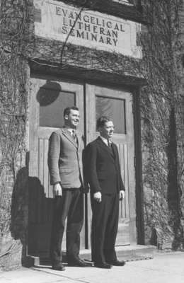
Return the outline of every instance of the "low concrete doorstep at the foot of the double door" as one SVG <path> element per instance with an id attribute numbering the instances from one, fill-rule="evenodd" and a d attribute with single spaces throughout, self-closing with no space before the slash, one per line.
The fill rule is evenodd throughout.
<path id="1" fill-rule="evenodd" d="M 130 246 L 117 246 L 115 247 L 117 258 L 119 260 L 133 261 L 133 260 L 148 260 L 154 258 L 155 246 L 142 246 L 142 245 L 130 245 Z M 81 250 L 80 256 L 84 260 L 91 261 L 91 250 Z M 50 258 L 44 257 L 31 257 L 35 266 L 51 265 Z M 63 255 L 63 262 L 67 262 L 66 255 Z"/>

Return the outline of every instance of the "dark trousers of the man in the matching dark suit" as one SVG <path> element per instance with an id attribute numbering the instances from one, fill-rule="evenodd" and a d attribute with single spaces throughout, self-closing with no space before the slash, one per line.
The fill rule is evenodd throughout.
<path id="1" fill-rule="evenodd" d="M 103 263 L 117 260 L 115 240 L 118 228 L 119 194 L 102 195 L 96 202 L 91 194 L 92 227 L 91 255 L 93 262 Z"/>

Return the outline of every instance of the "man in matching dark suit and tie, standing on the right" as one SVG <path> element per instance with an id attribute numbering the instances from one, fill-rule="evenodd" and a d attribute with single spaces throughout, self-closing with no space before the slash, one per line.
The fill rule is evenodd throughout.
<path id="1" fill-rule="evenodd" d="M 91 190 L 92 227 L 91 251 L 96 267 L 111 268 L 125 265 L 117 260 L 119 200 L 125 197 L 125 187 L 120 174 L 117 146 L 110 141 L 113 121 L 108 117 L 97 120 L 100 137 L 86 147 L 86 178 Z"/>

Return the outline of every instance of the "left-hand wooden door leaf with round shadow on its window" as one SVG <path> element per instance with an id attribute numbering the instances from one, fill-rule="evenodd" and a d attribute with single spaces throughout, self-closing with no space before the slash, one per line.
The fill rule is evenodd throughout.
<path id="1" fill-rule="evenodd" d="M 53 195 L 47 166 L 50 134 L 64 124 L 63 110 L 76 105 L 80 110 L 79 130 L 84 133 L 84 88 L 80 84 L 50 78 L 30 81 L 30 162 L 28 253 L 48 256 L 52 228 Z M 63 249 L 66 237 L 64 233 Z M 84 229 L 81 247 L 85 245 Z"/>

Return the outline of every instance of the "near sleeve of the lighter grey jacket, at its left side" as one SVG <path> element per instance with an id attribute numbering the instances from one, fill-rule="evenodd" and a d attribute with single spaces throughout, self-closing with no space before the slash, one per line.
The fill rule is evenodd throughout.
<path id="1" fill-rule="evenodd" d="M 48 151 L 48 167 L 50 172 L 50 185 L 61 181 L 59 175 L 60 136 L 53 132 L 50 136 Z"/>

